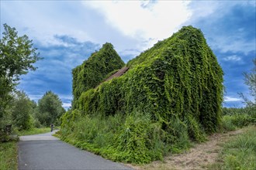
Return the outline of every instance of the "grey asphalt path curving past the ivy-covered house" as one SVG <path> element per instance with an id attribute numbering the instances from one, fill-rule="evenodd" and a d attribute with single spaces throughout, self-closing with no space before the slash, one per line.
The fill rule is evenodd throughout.
<path id="1" fill-rule="evenodd" d="M 19 138 L 19 169 L 132 169 L 75 148 L 52 134 Z"/>

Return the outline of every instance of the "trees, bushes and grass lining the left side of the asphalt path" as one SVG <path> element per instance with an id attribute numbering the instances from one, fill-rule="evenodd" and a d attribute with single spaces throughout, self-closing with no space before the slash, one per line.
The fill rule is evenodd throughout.
<path id="1" fill-rule="evenodd" d="M 18 36 L 15 28 L 3 25 L 0 39 L 0 169 L 17 169 L 17 135 L 50 131 L 60 125 L 65 110 L 57 94 L 48 91 L 36 104 L 17 90 L 20 76 L 36 70 L 42 59 L 28 36 Z M 44 128 L 47 127 L 47 128 Z"/>

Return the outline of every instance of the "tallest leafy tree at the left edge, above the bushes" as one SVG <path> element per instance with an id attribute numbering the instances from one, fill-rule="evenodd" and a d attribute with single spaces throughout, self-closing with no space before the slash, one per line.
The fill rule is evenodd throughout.
<path id="1" fill-rule="evenodd" d="M 18 36 L 15 28 L 7 24 L 3 26 L 4 32 L 0 39 L 0 121 L 12 99 L 11 92 L 15 90 L 19 77 L 29 70 L 36 70 L 33 63 L 41 59 L 28 36 Z"/>

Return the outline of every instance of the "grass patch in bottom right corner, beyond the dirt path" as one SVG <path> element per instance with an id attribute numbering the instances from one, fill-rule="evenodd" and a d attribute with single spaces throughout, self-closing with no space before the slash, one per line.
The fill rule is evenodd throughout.
<path id="1" fill-rule="evenodd" d="M 219 159 L 209 169 L 256 169 L 256 126 L 223 145 Z"/>

